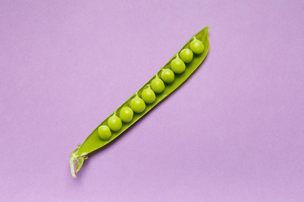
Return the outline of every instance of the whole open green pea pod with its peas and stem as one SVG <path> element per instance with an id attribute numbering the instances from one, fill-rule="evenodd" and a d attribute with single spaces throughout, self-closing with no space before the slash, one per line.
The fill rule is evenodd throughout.
<path id="1" fill-rule="evenodd" d="M 76 178 L 75 161 L 77 161 L 77 172 L 89 153 L 116 139 L 179 87 L 199 67 L 209 49 L 207 31 L 208 27 L 205 27 L 196 33 L 148 82 L 104 119 L 82 144 L 78 144 L 69 157 L 74 178 Z"/>

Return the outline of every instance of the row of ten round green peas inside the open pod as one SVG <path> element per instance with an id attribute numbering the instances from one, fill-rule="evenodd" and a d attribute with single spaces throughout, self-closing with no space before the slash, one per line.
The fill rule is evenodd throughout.
<path id="1" fill-rule="evenodd" d="M 114 113 L 108 121 L 107 125 L 101 125 L 98 127 L 98 135 L 102 140 L 108 140 L 112 132 L 118 131 L 122 127 L 122 122 L 129 123 L 132 121 L 134 112 L 141 113 L 146 109 L 146 103 L 151 104 L 155 101 L 155 93 L 162 93 L 165 90 L 165 83 L 172 83 L 174 81 L 174 73 L 181 74 L 186 69 L 186 64 L 192 61 L 193 53 L 201 54 L 203 53 L 204 46 L 200 40 L 194 39 L 189 48 L 184 48 L 178 56 L 173 59 L 170 63 L 170 68 L 165 68 L 162 70 L 161 78 L 156 75 L 148 85 L 146 89 L 141 92 L 141 98 L 136 94 L 132 98 L 129 107 L 125 106 L 119 110 L 118 116 Z"/>

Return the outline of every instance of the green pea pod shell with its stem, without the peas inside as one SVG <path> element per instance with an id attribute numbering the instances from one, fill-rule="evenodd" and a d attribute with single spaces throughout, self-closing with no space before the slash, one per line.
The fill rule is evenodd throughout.
<path id="1" fill-rule="evenodd" d="M 125 130 L 127 130 L 132 124 L 134 124 L 138 119 L 140 119 L 143 115 L 145 115 L 148 111 L 150 111 L 155 105 L 157 105 L 160 101 L 162 101 L 165 97 L 167 97 L 170 93 L 172 93 L 176 88 L 178 88 L 203 62 L 209 50 L 209 40 L 207 35 L 208 27 L 203 28 L 203 30 L 196 33 L 191 39 L 176 53 L 173 57 L 167 62 L 161 69 L 156 72 L 152 76 L 152 78 L 146 82 L 139 90 L 137 90 L 128 100 L 122 103 L 112 114 L 110 114 L 105 120 L 101 122 L 93 132 L 84 140 L 83 144 L 78 144 L 78 147 L 70 154 L 70 169 L 73 178 L 76 178 L 75 172 L 79 171 L 81 166 L 84 163 L 84 160 L 87 159 L 87 155 L 102 146 L 108 144 L 112 140 L 116 139 L 120 134 L 122 134 Z M 102 140 L 98 134 L 98 128 L 101 125 L 107 125 L 108 119 L 113 115 L 118 115 L 119 110 L 123 107 L 129 107 L 131 99 L 134 97 L 140 97 L 141 92 L 144 89 L 151 89 L 151 82 L 155 78 L 160 78 L 162 71 L 166 68 L 170 68 L 170 62 L 175 58 L 180 58 L 179 54 L 181 50 L 184 48 L 189 48 L 191 41 L 199 40 L 202 42 L 203 52 L 199 54 L 195 54 L 191 62 L 186 64 L 186 69 L 183 73 L 179 73 L 175 75 L 174 81 L 172 83 L 166 83 L 165 89 L 161 93 L 156 93 L 156 99 L 153 103 L 149 103 L 146 105 L 145 109 L 141 113 L 134 113 L 133 119 L 124 123 L 121 126 L 119 131 L 112 131 L 111 136 L 107 140 Z M 102 126 L 103 127 L 103 126 Z M 76 162 L 76 171 L 74 170 L 74 163 Z"/>

